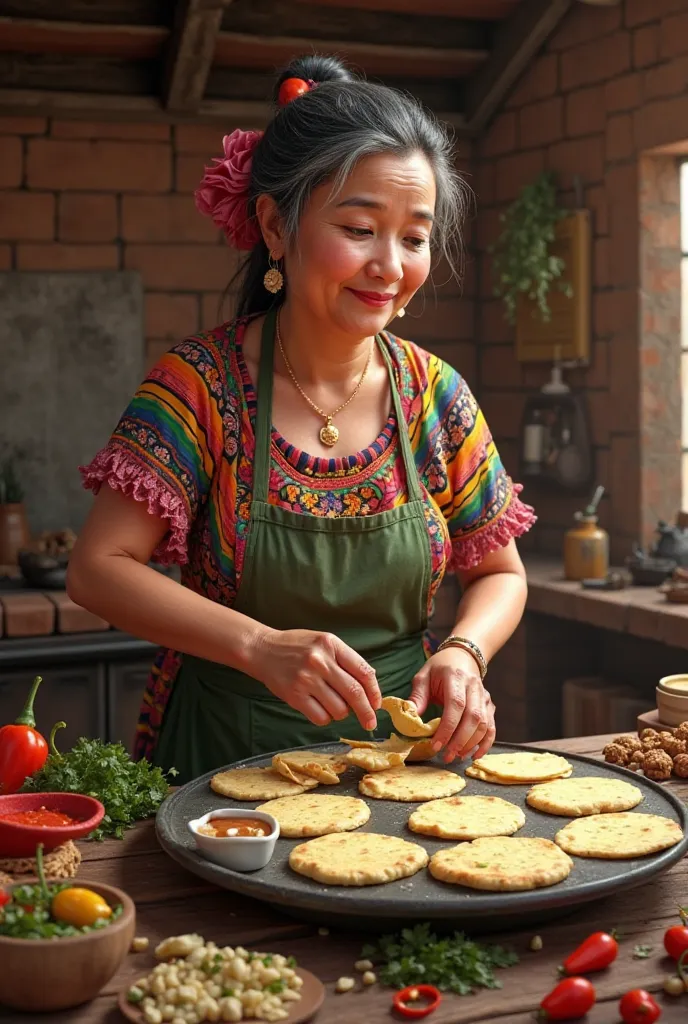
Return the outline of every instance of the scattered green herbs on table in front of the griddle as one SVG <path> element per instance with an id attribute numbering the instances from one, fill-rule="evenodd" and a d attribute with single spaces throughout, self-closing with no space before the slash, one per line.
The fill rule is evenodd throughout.
<path id="1" fill-rule="evenodd" d="M 385 985 L 400 988 L 424 983 L 459 995 L 476 988 L 501 988 L 494 968 L 518 963 L 518 956 L 502 946 L 474 942 L 461 932 L 438 939 L 428 924 L 385 935 L 377 944 L 364 946 L 361 955 L 376 962 Z"/>

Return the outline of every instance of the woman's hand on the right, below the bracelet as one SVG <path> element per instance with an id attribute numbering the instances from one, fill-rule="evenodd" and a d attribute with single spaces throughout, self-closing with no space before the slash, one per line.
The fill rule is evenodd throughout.
<path id="1" fill-rule="evenodd" d="M 480 758 L 494 742 L 494 705 L 482 685 L 475 659 L 462 647 L 433 654 L 414 677 L 411 700 L 422 715 L 428 705 L 441 705 L 442 721 L 433 746 L 444 761 L 464 758 L 474 748 Z"/>

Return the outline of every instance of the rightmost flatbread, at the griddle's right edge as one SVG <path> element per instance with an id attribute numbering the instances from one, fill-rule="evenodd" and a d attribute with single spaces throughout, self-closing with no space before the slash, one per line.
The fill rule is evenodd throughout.
<path id="1" fill-rule="evenodd" d="M 682 839 L 683 830 L 672 818 L 626 811 L 576 818 L 557 833 L 554 842 L 576 857 L 629 860 L 666 850 Z"/>

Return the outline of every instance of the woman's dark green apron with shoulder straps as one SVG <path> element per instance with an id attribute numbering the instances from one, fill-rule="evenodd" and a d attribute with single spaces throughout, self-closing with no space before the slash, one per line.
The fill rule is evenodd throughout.
<path id="1" fill-rule="evenodd" d="M 374 667 L 383 695 L 407 697 L 425 662 L 431 553 L 389 353 L 378 337 L 389 372 L 407 502 L 367 516 L 292 512 L 268 504 L 274 328 L 270 312 L 260 350 L 253 501 L 232 607 L 276 630 L 336 634 Z M 243 672 L 184 654 L 154 763 L 176 768 L 181 784 L 253 755 L 368 735 L 353 714 L 329 726 L 311 725 Z"/>

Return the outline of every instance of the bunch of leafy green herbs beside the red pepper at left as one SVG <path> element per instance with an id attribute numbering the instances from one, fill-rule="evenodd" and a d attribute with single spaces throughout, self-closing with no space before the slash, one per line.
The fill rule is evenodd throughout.
<path id="1" fill-rule="evenodd" d="M 26 780 L 23 792 L 95 797 L 105 815 L 88 838 L 102 840 L 122 839 L 135 821 L 155 814 L 170 786 L 160 768 L 144 760 L 132 761 L 122 743 L 82 737 L 66 754 L 53 748 L 44 766 Z"/>

